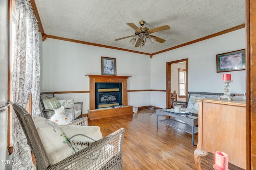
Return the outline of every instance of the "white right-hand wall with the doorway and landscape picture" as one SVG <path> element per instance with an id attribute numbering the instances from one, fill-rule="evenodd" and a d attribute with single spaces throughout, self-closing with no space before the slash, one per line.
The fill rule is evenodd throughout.
<path id="1" fill-rule="evenodd" d="M 166 63 L 188 58 L 188 91 L 223 93 L 222 74 L 216 72 L 216 55 L 245 49 L 245 28 L 180 47 L 152 57 L 152 89 L 166 90 Z M 246 72 L 232 74 L 231 93 L 243 94 L 246 90 Z M 152 106 L 166 107 L 165 92 L 154 92 Z"/>

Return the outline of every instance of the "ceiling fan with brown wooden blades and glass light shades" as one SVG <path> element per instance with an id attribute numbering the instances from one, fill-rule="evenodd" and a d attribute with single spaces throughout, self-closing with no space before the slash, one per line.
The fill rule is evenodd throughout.
<path id="1" fill-rule="evenodd" d="M 164 43 L 165 39 L 162 39 L 162 38 L 156 37 L 154 35 L 151 35 L 151 33 L 155 33 L 155 32 L 170 29 L 170 26 L 168 26 L 168 25 L 163 25 L 161 27 L 148 29 L 147 27 L 144 27 L 145 21 L 140 21 L 141 27 L 137 27 L 134 23 L 126 23 L 126 24 L 129 25 L 130 27 L 132 27 L 132 29 L 135 30 L 135 35 L 130 35 L 130 36 L 127 36 L 127 37 L 118 38 L 118 39 L 115 39 L 115 41 L 118 41 L 120 39 L 129 38 L 129 37 L 135 37 L 135 38 L 130 40 L 130 43 L 132 45 L 134 45 L 134 43 L 136 41 L 136 38 L 138 38 L 134 47 L 139 47 L 139 46 L 143 47 L 144 43 L 146 43 L 147 38 L 150 40 L 151 43 L 153 43 L 154 41 L 157 41 L 159 43 Z"/>

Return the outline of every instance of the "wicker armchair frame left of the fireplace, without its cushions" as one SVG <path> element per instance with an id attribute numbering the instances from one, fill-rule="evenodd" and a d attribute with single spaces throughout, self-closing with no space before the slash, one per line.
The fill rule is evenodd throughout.
<path id="1" fill-rule="evenodd" d="M 54 110 L 53 109 L 45 109 L 44 107 L 44 99 L 50 99 L 50 98 L 54 98 L 54 93 L 53 92 L 41 92 L 40 93 L 40 102 L 41 102 L 41 105 L 43 107 L 43 114 L 44 114 L 44 117 L 46 119 L 50 119 L 52 117 L 52 115 L 54 115 Z M 71 117 L 73 120 L 75 119 L 79 119 L 82 117 L 82 111 L 83 111 L 83 102 L 76 102 L 74 103 L 75 104 L 75 107 L 65 107 L 65 114 L 68 116 L 68 117 Z M 76 111 L 81 111 L 81 114 L 78 115 L 78 116 L 75 116 L 75 109 Z"/>

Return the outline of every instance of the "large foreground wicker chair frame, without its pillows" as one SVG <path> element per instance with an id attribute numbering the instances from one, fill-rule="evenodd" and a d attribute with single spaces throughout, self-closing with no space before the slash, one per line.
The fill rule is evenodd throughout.
<path id="1" fill-rule="evenodd" d="M 54 165 L 50 165 L 32 117 L 22 106 L 12 104 L 12 107 L 20 121 L 27 138 L 28 145 L 36 158 L 37 170 L 122 170 L 122 143 L 124 139 L 124 128 L 121 128 L 103 139 L 94 142 L 92 145 L 72 154 L 68 158 Z M 102 150 L 106 145 L 114 147 L 114 149 L 110 150 L 111 153 L 99 154 L 95 159 L 85 158 L 98 150 Z M 108 155 L 107 159 L 106 155 Z M 112 155 L 111 158 L 109 158 L 109 155 Z"/>

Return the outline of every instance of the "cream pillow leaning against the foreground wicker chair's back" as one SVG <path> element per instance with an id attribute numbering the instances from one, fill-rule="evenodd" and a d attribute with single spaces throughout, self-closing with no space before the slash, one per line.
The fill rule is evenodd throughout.
<path id="1" fill-rule="evenodd" d="M 50 164 L 56 164 L 73 154 L 73 149 L 60 125 L 43 117 L 33 117 L 38 135 Z"/>

